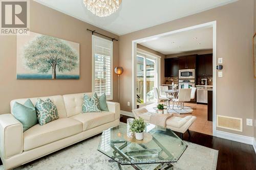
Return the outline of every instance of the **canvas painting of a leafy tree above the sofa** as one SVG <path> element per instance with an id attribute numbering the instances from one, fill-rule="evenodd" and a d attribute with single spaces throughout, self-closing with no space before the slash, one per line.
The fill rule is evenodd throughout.
<path id="1" fill-rule="evenodd" d="M 17 35 L 17 79 L 79 79 L 79 43 Z"/>

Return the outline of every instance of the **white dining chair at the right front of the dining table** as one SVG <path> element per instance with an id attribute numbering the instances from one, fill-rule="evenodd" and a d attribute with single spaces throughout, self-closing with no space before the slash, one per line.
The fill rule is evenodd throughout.
<path id="1" fill-rule="evenodd" d="M 173 109 L 174 109 L 174 103 L 176 103 L 178 109 L 179 106 L 178 104 L 181 105 L 181 109 L 184 109 L 184 102 L 190 102 L 191 100 L 191 88 L 182 88 L 179 89 L 179 93 L 178 93 L 178 98 L 177 99 L 173 99 Z M 179 109 L 179 110 L 181 110 Z"/>

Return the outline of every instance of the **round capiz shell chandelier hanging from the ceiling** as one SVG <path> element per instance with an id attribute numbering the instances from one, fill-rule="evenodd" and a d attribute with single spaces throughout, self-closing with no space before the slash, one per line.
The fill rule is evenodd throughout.
<path id="1" fill-rule="evenodd" d="M 83 0 L 84 6 L 99 17 L 109 16 L 116 12 L 122 0 Z"/>

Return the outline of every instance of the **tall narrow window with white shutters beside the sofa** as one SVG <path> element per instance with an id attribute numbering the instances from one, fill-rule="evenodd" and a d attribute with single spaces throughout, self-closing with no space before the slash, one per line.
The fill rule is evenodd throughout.
<path id="1" fill-rule="evenodd" d="M 98 96 L 105 93 L 113 100 L 112 59 L 113 42 L 93 35 L 93 91 Z"/>

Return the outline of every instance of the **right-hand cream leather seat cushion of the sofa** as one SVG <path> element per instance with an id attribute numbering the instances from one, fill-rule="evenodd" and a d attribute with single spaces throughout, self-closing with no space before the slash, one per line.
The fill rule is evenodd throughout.
<path id="1" fill-rule="evenodd" d="M 95 128 L 97 126 L 113 122 L 115 120 L 115 113 L 113 112 L 91 112 L 91 113 L 80 113 L 70 118 L 79 120 L 82 123 L 83 131 Z"/>

